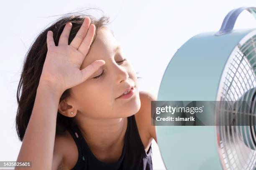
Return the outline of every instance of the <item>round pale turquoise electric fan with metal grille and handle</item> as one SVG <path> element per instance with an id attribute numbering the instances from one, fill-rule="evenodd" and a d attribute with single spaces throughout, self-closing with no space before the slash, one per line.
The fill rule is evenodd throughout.
<path id="1" fill-rule="evenodd" d="M 156 126 L 167 170 L 256 169 L 256 29 L 233 30 L 243 10 L 256 18 L 255 7 L 234 9 L 218 32 L 196 35 L 177 50 L 157 100 L 227 101 L 235 119 L 248 125 Z M 250 109 L 238 110 L 239 101 L 248 101 Z M 216 121 L 226 116 L 221 109 L 205 114 Z"/>

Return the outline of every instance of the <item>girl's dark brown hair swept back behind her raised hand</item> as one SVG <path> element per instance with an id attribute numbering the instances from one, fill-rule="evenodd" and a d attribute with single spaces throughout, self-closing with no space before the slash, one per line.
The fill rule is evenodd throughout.
<path id="1" fill-rule="evenodd" d="M 16 131 L 18 133 L 18 138 L 20 141 L 23 140 L 25 135 L 26 128 L 28 126 L 28 121 L 30 119 L 33 105 L 36 98 L 36 90 L 38 87 L 38 83 L 41 77 L 42 69 L 44 66 L 44 61 L 47 53 L 47 44 L 46 44 L 46 35 L 49 30 L 53 32 L 55 45 L 58 45 L 59 37 L 61 32 L 64 29 L 66 23 L 72 23 L 72 30 L 69 35 L 69 44 L 77 34 L 79 28 L 81 27 L 84 17 L 90 17 L 91 24 L 94 24 L 96 27 L 95 36 L 92 43 L 95 40 L 97 35 L 97 31 L 104 25 L 107 25 L 109 22 L 109 17 L 102 16 L 99 19 L 91 16 L 72 13 L 66 14 L 63 17 L 56 20 L 53 24 L 51 24 L 48 28 L 44 29 L 39 33 L 38 37 L 34 40 L 28 52 L 26 53 L 26 57 L 23 63 L 23 69 L 21 72 L 20 81 L 18 84 L 17 90 L 17 102 L 18 102 L 18 110 L 16 115 Z M 89 49 L 90 50 L 90 49 Z M 20 90 L 21 95 L 20 95 Z M 67 99 L 70 96 L 69 89 L 67 89 L 60 98 L 60 102 Z M 59 112 L 57 114 L 57 122 L 56 122 L 56 134 L 60 134 L 64 132 L 70 124 L 73 124 L 73 120 L 70 117 L 66 117 L 61 115 Z"/>

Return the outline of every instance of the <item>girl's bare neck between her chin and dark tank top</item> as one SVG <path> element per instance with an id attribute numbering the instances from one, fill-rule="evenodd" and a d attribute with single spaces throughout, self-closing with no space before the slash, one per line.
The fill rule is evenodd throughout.
<path id="1" fill-rule="evenodd" d="M 90 149 L 107 153 L 117 145 L 123 145 L 128 122 L 126 117 L 111 119 L 86 117 L 79 120 L 77 125 Z"/>

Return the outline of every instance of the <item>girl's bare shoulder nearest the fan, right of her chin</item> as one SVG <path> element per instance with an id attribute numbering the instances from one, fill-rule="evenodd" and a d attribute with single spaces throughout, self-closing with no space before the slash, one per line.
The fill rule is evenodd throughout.
<path id="1" fill-rule="evenodd" d="M 140 91 L 139 94 L 141 100 L 141 108 L 135 114 L 135 118 L 141 140 L 142 142 L 144 140 L 143 144 L 145 145 L 147 145 L 147 143 L 150 144 L 152 139 L 154 139 L 157 143 L 155 126 L 151 126 L 151 101 L 156 100 L 156 97 L 145 91 Z"/>

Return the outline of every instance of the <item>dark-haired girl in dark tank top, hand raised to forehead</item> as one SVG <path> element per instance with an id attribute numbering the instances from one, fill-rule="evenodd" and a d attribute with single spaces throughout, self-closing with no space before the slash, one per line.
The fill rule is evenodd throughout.
<path id="1" fill-rule="evenodd" d="M 30 47 L 16 116 L 23 141 L 17 161 L 31 161 L 27 169 L 152 169 L 156 98 L 139 92 L 107 23 L 106 17 L 68 15 Z"/>

